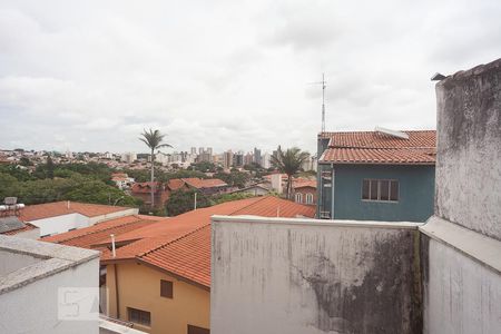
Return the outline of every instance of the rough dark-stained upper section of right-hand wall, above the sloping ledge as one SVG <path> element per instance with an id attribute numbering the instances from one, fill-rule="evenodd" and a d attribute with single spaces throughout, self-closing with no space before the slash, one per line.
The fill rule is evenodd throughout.
<path id="1" fill-rule="evenodd" d="M 501 59 L 436 85 L 439 217 L 501 239 Z"/>

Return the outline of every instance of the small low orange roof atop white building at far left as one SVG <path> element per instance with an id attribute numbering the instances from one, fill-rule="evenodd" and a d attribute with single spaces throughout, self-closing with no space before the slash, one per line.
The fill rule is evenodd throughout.
<path id="1" fill-rule="evenodd" d="M 69 202 L 68 208 L 68 200 L 62 200 L 46 204 L 28 205 L 21 210 L 19 218 L 23 222 L 32 222 L 69 214 L 80 214 L 87 217 L 96 217 L 127 209 L 130 208 L 101 204 L 78 203 L 78 202 Z"/>

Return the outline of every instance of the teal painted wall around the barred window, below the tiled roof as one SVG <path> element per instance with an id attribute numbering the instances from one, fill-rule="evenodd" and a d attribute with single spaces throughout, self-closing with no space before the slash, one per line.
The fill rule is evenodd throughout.
<path id="1" fill-rule="evenodd" d="M 434 166 L 335 165 L 334 218 L 425 222 L 433 214 Z M 362 200 L 362 180 L 397 179 L 397 203 Z"/>

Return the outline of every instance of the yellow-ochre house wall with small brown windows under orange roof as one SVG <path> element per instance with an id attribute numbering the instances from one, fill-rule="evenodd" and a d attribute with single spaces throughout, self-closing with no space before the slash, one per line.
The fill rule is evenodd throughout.
<path id="1" fill-rule="evenodd" d="M 174 298 L 160 296 L 160 279 L 174 283 Z M 205 288 L 135 262 L 108 265 L 106 285 L 111 317 L 130 321 L 127 307 L 151 313 L 151 326 L 135 324 L 137 330 L 153 334 L 186 334 L 188 324 L 209 328 L 210 293 Z M 116 307 L 117 285 L 119 313 Z"/>

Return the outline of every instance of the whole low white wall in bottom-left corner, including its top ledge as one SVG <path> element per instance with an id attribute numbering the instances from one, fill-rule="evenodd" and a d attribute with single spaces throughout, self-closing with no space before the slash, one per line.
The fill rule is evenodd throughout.
<path id="1" fill-rule="evenodd" d="M 97 288 L 98 252 L 16 237 L 0 237 L 0 247 L 2 263 L 16 262 L 10 266 L 13 272 L 0 275 L 0 333 L 98 333 L 97 314 L 86 321 L 60 318 L 66 313 L 58 298 L 62 287 Z M 71 312 L 85 316 L 89 310 L 79 313 L 77 305 Z"/>

